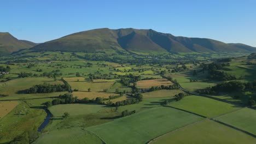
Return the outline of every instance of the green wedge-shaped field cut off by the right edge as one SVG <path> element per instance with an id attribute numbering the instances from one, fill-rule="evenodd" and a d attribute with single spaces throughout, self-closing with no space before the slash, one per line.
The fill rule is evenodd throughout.
<path id="1" fill-rule="evenodd" d="M 256 135 L 256 110 L 245 108 L 216 119 Z"/>

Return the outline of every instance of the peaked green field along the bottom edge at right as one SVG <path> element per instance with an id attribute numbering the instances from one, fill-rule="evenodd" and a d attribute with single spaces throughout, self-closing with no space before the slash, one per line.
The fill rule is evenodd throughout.
<path id="1" fill-rule="evenodd" d="M 178 131 L 154 140 L 155 144 L 190 143 L 190 144 L 216 144 L 216 143 L 256 143 L 256 139 L 250 135 L 226 127 L 225 125 L 207 120 L 199 122 Z"/>

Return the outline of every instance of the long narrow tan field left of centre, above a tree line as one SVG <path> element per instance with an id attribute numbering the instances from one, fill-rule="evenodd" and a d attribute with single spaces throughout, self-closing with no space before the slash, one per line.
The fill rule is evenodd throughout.
<path id="1" fill-rule="evenodd" d="M 116 93 L 100 93 L 100 92 L 73 92 L 74 97 L 78 97 L 78 99 L 89 98 L 95 99 L 97 97 L 108 98 L 110 95 L 118 95 Z"/>

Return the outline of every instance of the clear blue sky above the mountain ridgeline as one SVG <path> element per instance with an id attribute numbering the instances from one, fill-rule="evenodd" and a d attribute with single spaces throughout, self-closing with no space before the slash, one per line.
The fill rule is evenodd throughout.
<path id="1" fill-rule="evenodd" d="M 254 0 L 3 0 L 0 32 L 42 43 L 95 28 L 151 28 L 256 46 L 255 6 Z"/>

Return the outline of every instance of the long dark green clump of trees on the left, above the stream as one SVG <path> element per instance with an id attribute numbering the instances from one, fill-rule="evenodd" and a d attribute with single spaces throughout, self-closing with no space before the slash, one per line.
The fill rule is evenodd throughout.
<path id="1" fill-rule="evenodd" d="M 36 85 L 26 90 L 26 93 L 52 93 L 52 92 L 64 92 L 69 91 L 70 86 L 65 83 L 64 85 L 50 85 L 49 83 L 44 83 L 43 85 Z"/>

